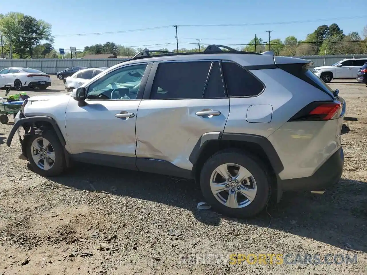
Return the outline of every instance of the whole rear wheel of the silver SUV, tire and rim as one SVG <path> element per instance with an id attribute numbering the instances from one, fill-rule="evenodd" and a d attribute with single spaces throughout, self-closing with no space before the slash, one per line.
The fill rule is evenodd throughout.
<path id="1" fill-rule="evenodd" d="M 229 217 L 253 217 L 270 198 L 268 169 L 257 157 L 238 150 L 222 150 L 209 158 L 201 169 L 200 187 L 207 203 Z"/>

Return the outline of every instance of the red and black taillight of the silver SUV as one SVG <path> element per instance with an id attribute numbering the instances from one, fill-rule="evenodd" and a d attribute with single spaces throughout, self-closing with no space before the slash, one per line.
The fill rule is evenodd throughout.
<path id="1" fill-rule="evenodd" d="M 342 112 L 340 101 L 312 102 L 295 114 L 289 121 L 318 121 L 339 118 Z"/>

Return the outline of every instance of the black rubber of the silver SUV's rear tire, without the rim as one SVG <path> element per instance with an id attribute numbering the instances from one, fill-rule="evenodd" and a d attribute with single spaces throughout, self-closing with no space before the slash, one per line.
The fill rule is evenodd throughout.
<path id="1" fill-rule="evenodd" d="M 241 165 L 254 177 L 257 192 L 255 198 L 247 206 L 242 208 L 230 208 L 219 202 L 212 193 L 210 187 L 211 175 L 214 170 L 222 164 Z M 269 177 L 269 171 L 265 167 L 266 166 L 257 157 L 239 150 L 230 149 L 215 153 L 205 162 L 200 174 L 200 187 L 206 202 L 209 203 L 214 210 L 217 210 L 219 213 L 228 217 L 249 218 L 256 216 L 264 209 L 271 194 L 271 180 Z"/>

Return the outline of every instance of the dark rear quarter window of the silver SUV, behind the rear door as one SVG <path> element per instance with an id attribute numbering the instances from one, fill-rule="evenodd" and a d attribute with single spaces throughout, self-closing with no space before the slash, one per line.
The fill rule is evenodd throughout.
<path id="1" fill-rule="evenodd" d="M 222 62 L 222 68 L 229 97 L 257 96 L 265 88 L 255 76 L 236 63 Z"/>

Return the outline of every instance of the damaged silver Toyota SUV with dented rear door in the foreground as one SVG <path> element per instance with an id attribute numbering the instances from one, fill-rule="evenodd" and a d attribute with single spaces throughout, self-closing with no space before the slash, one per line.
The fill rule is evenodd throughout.
<path id="1" fill-rule="evenodd" d="M 254 216 L 270 196 L 341 177 L 345 101 L 309 65 L 217 45 L 141 52 L 70 94 L 26 100 L 7 145 L 18 131 L 42 176 L 80 161 L 190 178 L 218 212 Z"/>

